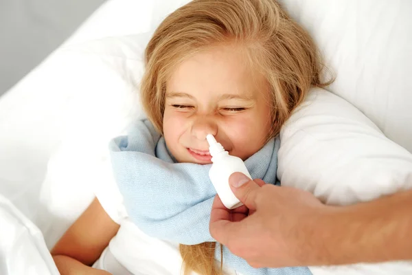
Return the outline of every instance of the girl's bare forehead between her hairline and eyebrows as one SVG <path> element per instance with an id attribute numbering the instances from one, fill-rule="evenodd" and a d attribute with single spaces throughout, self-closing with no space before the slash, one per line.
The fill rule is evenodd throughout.
<path id="1" fill-rule="evenodd" d="M 231 45 L 220 45 L 179 64 L 168 80 L 167 91 L 251 96 L 264 85 L 264 77 L 253 72 L 244 51 Z"/>

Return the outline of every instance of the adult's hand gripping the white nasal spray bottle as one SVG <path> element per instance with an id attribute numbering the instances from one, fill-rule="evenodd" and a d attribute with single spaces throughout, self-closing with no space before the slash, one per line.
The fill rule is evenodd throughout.
<path id="1" fill-rule="evenodd" d="M 290 267 L 314 263 L 310 259 L 311 232 L 323 205 L 310 192 L 250 180 L 242 173 L 229 178 L 233 193 L 244 206 L 229 210 L 218 196 L 211 209 L 209 230 L 216 241 L 252 267 Z M 322 211 L 320 211 L 322 210 Z"/>

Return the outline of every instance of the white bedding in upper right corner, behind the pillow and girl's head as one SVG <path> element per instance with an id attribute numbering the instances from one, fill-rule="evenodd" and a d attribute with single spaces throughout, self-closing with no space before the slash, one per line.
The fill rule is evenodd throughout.
<path id="1" fill-rule="evenodd" d="M 335 72 L 328 89 L 412 152 L 412 1 L 281 1 Z"/>

